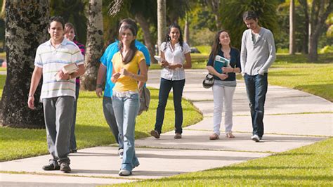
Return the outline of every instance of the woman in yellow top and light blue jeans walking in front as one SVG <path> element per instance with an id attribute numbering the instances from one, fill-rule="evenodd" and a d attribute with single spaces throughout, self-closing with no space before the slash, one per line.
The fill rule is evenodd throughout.
<path id="1" fill-rule="evenodd" d="M 112 82 L 115 82 L 112 107 L 119 129 L 120 141 L 124 142 L 124 155 L 120 176 L 129 176 L 139 162 L 134 149 L 136 115 L 140 107 L 138 82 L 147 82 L 145 57 L 136 49 L 136 30 L 124 25 L 119 30 L 119 52 L 112 58 Z M 140 70 L 140 75 L 138 75 Z"/>

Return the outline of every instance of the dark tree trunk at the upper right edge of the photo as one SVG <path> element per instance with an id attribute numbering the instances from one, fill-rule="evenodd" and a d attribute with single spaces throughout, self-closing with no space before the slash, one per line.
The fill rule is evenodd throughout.
<path id="1" fill-rule="evenodd" d="M 309 53 L 308 60 L 310 62 L 318 61 L 318 41 L 320 34 L 322 34 L 322 27 L 325 24 L 325 20 L 327 19 L 329 13 L 333 11 L 333 2 L 332 0 L 320 0 L 313 1 L 311 8 L 311 32 L 310 32 L 310 45 L 309 45 Z"/>

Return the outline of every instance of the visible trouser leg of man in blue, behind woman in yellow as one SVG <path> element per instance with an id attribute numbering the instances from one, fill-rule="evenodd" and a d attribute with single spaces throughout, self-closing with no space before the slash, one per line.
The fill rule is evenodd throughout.
<path id="1" fill-rule="evenodd" d="M 107 124 L 109 125 L 115 140 L 117 141 L 120 148 L 124 148 L 124 143 L 120 141 L 121 137 L 119 136 L 117 121 L 115 117 L 115 112 L 112 107 L 112 98 L 103 97 L 103 113 Z"/>

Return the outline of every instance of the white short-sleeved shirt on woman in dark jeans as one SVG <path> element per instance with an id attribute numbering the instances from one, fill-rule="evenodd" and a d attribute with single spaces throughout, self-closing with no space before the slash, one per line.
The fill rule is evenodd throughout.
<path id="1" fill-rule="evenodd" d="M 175 44 L 175 49 L 171 48 L 171 44 L 168 42 L 163 42 L 160 47 L 161 51 L 164 52 L 165 60 L 171 64 L 181 64 L 185 62 L 185 54 L 190 53 L 190 46 L 183 42 L 183 49 L 179 42 Z M 164 51 L 165 49 L 165 51 Z M 182 80 L 185 79 L 185 71 L 183 68 L 176 68 L 175 70 L 170 70 L 164 67 L 161 71 L 161 77 L 167 80 Z"/>

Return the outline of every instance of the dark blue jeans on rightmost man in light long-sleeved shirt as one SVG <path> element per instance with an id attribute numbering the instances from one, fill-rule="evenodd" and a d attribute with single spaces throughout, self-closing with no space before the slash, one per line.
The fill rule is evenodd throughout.
<path id="1" fill-rule="evenodd" d="M 260 138 L 263 136 L 263 108 L 268 87 L 267 76 L 267 73 L 264 75 L 244 75 L 252 117 L 252 134 L 256 134 Z"/>

